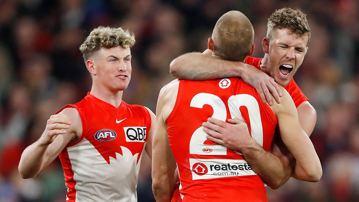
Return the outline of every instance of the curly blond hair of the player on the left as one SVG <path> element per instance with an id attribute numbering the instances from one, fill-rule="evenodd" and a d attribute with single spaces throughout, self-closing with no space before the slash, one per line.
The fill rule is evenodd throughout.
<path id="1" fill-rule="evenodd" d="M 121 27 L 98 27 L 93 29 L 86 40 L 81 44 L 80 51 L 85 62 L 101 48 L 110 49 L 122 46 L 127 49 L 135 44 L 135 35 Z"/>

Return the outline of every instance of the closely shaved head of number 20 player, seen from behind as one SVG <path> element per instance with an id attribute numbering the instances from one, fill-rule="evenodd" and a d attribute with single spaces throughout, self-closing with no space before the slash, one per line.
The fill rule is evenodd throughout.
<path id="1" fill-rule="evenodd" d="M 254 29 L 243 13 L 232 10 L 219 18 L 212 33 L 214 55 L 244 61 L 254 40 Z"/>

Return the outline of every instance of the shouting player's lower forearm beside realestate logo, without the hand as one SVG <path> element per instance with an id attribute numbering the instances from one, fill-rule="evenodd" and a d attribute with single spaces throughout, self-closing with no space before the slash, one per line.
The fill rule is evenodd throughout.
<path id="1" fill-rule="evenodd" d="M 253 171 L 272 189 L 278 189 L 290 177 L 289 162 L 267 152 L 259 144 L 242 150 Z"/>

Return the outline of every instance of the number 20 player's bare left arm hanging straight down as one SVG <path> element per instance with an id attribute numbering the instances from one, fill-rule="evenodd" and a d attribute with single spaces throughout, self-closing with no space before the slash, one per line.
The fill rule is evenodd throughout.
<path id="1" fill-rule="evenodd" d="M 179 81 L 176 79 L 164 86 L 157 101 L 152 151 L 152 190 L 157 202 L 171 201 L 177 183 L 174 178 L 177 165 L 169 147 L 166 120 L 176 102 L 178 85 Z"/>

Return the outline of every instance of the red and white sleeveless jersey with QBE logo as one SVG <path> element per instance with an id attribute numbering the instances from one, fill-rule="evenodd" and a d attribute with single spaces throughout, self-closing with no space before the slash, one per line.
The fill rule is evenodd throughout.
<path id="1" fill-rule="evenodd" d="M 148 110 L 113 105 L 90 93 L 74 105 L 83 132 L 59 157 L 64 168 L 66 202 L 136 202 L 137 177 L 151 127 Z"/>

